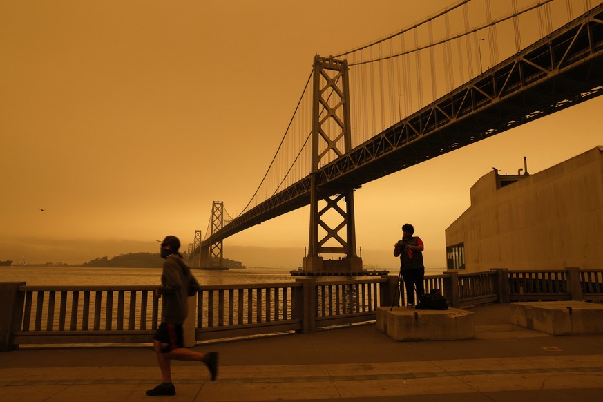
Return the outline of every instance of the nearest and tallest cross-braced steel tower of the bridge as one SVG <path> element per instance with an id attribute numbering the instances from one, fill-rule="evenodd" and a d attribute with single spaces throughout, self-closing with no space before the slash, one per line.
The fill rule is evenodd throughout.
<path id="1" fill-rule="evenodd" d="M 347 73 L 346 60 L 314 57 L 310 232 L 308 254 L 303 258 L 305 271 L 312 273 L 362 271 L 362 259 L 356 255 L 354 189 L 321 193 L 317 177 L 322 160 L 328 162 L 327 158 L 340 157 L 352 149 Z M 319 229 L 325 231 L 320 239 Z M 343 257 L 325 260 L 320 254 Z"/>

